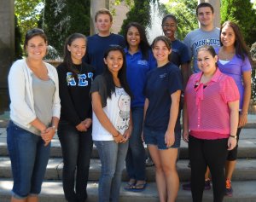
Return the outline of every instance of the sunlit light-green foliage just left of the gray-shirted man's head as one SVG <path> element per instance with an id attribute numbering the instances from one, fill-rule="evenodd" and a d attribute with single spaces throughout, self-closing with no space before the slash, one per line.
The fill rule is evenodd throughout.
<path id="1" fill-rule="evenodd" d="M 166 14 L 173 14 L 177 18 L 177 38 L 183 38 L 198 27 L 195 9 L 197 0 L 169 0 L 166 3 Z"/>

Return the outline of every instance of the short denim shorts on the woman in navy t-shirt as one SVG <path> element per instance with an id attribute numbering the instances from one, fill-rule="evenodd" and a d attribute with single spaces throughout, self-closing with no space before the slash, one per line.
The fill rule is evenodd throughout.
<path id="1" fill-rule="evenodd" d="M 175 141 L 171 147 L 166 147 L 165 135 L 166 130 L 151 130 L 146 126 L 143 128 L 144 141 L 147 145 L 156 145 L 160 150 L 180 147 L 180 134 L 175 133 Z"/>

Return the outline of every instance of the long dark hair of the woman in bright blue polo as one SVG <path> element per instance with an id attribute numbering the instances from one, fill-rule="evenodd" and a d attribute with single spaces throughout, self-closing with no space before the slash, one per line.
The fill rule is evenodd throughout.
<path id="1" fill-rule="evenodd" d="M 127 33 L 128 33 L 128 30 L 130 29 L 131 26 L 134 26 L 137 28 L 137 31 L 140 33 L 140 38 L 141 38 L 141 41 L 140 43 L 138 44 L 139 48 L 141 49 L 142 51 L 142 54 L 143 54 L 143 60 L 148 60 L 148 49 L 150 49 L 150 46 L 149 46 L 149 43 L 148 43 L 148 39 L 146 37 L 146 31 L 145 31 L 145 28 L 137 23 L 137 22 L 130 22 L 126 27 L 125 27 L 125 43 L 126 43 L 126 46 L 129 48 L 129 43 L 127 42 Z"/>

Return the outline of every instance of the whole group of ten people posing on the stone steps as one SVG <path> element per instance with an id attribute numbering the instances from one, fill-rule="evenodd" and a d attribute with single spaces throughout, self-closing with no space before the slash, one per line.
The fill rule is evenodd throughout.
<path id="1" fill-rule="evenodd" d="M 191 188 L 193 201 L 202 201 L 208 166 L 213 200 L 222 201 L 231 192 L 225 182 L 230 185 L 239 133 L 247 123 L 251 65 L 235 23 L 214 28 L 209 3 L 199 4 L 196 14 L 201 28 L 190 32 L 184 43 L 175 38 L 176 17 L 167 14 L 162 20 L 165 36 L 154 38 L 150 46 L 137 22 L 126 26 L 124 38 L 111 33 L 112 15 L 100 9 L 95 16 L 98 33 L 89 38 L 70 35 L 56 69 L 43 61 L 48 44 L 44 31 L 26 32 L 27 56 L 9 72 L 12 202 L 38 201 L 55 132 L 67 201 L 87 199 L 93 143 L 102 164 L 99 201 L 119 201 L 125 165 L 125 190 L 143 191 L 143 141 L 154 161 L 160 201 L 175 201 L 182 107 L 191 166 L 191 182 L 183 188 Z"/>

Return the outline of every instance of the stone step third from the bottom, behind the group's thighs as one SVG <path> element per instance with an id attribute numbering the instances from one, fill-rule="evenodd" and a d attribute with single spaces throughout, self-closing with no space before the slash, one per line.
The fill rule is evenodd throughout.
<path id="1" fill-rule="evenodd" d="M 241 130 L 241 138 L 239 141 L 238 158 L 256 158 L 256 130 L 243 129 Z M 55 135 L 52 141 L 51 157 L 61 157 L 61 144 L 58 137 Z M 0 128 L 0 156 L 8 156 L 6 144 L 6 130 Z M 181 141 L 180 159 L 188 159 L 188 144 Z M 96 147 L 92 151 L 92 159 L 98 159 Z"/>

